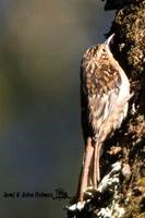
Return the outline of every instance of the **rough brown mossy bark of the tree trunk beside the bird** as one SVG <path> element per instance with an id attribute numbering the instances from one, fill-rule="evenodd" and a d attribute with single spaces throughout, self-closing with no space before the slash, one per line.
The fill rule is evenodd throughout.
<path id="1" fill-rule="evenodd" d="M 134 95 L 126 120 L 105 143 L 100 159 L 101 178 L 111 165 L 121 164 L 119 183 L 96 194 L 81 213 L 69 213 L 69 217 L 145 218 L 145 0 L 126 3 L 117 12 L 108 35 L 116 34 L 112 52 Z"/>

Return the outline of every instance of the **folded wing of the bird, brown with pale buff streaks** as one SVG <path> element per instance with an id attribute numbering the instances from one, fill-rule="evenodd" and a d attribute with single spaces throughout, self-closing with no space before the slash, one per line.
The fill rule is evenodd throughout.
<path id="1" fill-rule="evenodd" d="M 90 64 L 92 66 L 92 64 Z M 102 123 L 116 107 L 121 77 L 111 64 L 101 64 L 99 68 L 82 70 L 82 93 L 85 96 L 87 121 L 92 135 L 99 135 Z"/>

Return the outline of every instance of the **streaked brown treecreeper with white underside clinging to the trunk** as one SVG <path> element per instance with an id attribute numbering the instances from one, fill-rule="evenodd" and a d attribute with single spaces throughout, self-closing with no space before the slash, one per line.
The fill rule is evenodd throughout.
<path id="1" fill-rule="evenodd" d="M 83 202 L 89 186 L 100 180 L 101 146 L 121 126 L 128 113 L 130 82 L 110 49 L 113 35 L 87 49 L 81 62 L 81 112 L 85 153 L 77 201 Z"/>

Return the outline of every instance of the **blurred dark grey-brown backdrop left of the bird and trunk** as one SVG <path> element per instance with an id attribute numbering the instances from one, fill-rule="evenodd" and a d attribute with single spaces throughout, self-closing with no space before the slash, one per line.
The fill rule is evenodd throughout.
<path id="1" fill-rule="evenodd" d="M 84 143 L 80 60 L 105 40 L 99 0 L 0 1 L 0 195 L 76 190 Z M 4 218 L 64 217 L 68 201 L 5 199 Z"/>

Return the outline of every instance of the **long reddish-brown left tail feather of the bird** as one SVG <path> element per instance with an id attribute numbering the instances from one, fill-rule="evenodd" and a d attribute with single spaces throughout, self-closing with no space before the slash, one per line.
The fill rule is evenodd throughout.
<path id="1" fill-rule="evenodd" d="M 81 179 L 80 179 L 80 190 L 78 190 L 78 201 L 83 202 L 84 193 L 87 189 L 87 182 L 88 182 L 88 172 L 92 161 L 94 147 L 92 146 L 92 138 L 87 138 L 87 145 L 85 150 L 85 157 L 83 161 L 82 172 L 81 172 Z"/>

